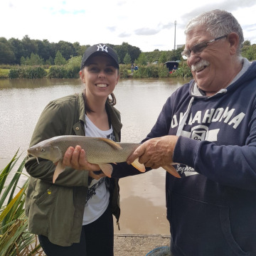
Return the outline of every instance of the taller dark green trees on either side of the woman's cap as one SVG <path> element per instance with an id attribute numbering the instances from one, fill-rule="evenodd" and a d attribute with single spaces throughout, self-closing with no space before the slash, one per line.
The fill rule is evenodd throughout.
<path id="1" fill-rule="evenodd" d="M 21 40 L 10 38 L 7 40 L 4 37 L 0 38 L 0 64 L 5 65 L 23 65 L 26 64 L 28 58 L 40 58 L 42 65 L 54 65 L 56 56 L 60 55 L 69 60 L 71 57 L 82 56 L 85 49 L 90 45 L 80 46 L 80 43 L 69 43 L 59 41 L 58 43 L 50 43 L 47 39 L 35 40 L 27 35 Z M 136 60 L 139 54 L 142 53 L 136 46 L 130 46 L 128 43 L 122 43 L 121 46 L 114 46 L 109 43 L 109 46 L 116 50 L 119 56 L 119 63 L 124 63 L 124 56 L 128 53 L 131 61 Z M 38 60 L 37 60 L 38 61 Z"/>

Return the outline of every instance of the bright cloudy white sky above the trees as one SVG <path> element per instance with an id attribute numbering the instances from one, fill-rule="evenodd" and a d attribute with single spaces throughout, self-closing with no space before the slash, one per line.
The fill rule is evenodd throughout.
<path id="1" fill-rule="evenodd" d="M 1 0 L 0 37 L 173 50 L 185 44 L 186 23 L 213 9 L 230 11 L 256 43 L 255 0 Z"/>

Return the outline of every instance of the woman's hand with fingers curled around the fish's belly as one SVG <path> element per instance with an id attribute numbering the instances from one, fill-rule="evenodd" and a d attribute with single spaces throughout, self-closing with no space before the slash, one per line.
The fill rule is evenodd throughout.
<path id="1" fill-rule="evenodd" d="M 85 150 L 81 146 L 70 146 L 63 157 L 63 164 L 70 166 L 76 170 L 87 170 L 87 171 L 100 171 L 100 166 L 97 164 L 90 164 L 86 160 Z"/>

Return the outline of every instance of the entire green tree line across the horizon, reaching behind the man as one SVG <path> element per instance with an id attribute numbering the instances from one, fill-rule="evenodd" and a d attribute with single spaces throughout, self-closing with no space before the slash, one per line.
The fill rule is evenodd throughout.
<path id="1" fill-rule="evenodd" d="M 169 60 L 181 60 L 181 52 L 184 47 L 176 50 L 158 50 L 143 53 L 136 46 L 129 43 L 122 45 L 110 44 L 118 55 L 120 64 L 136 63 L 165 63 Z M 85 49 L 90 45 L 80 46 L 80 43 L 59 41 L 50 43 L 47 39 L 35 40 L 27 35 L 21 40 L 4 37 L 0 38 L 0 65 L 65 65 L 70 58 L 82 56 Z M 256 44 L 245 41 L 242 47 L 242 56 L 248 60 L 256 60 Z"/>

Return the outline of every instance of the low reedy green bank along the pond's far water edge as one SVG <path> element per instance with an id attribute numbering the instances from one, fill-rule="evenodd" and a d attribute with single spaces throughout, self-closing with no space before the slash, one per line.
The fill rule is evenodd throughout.
<path id="1" fill-rule="evenodd" d="M 185 62 L 179 63 L 178 69 L 170 71 L 164 63 L 141 65 L 131 71 L 130 65 L 119 65 L 120 78 L 192 78 L 191 70 Z M 79 78 L 78 65 L 28 66 L 16 65 L 0 68 L 0 78 Z"/>

